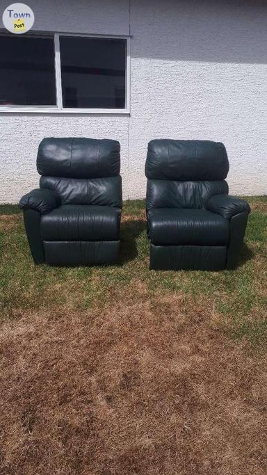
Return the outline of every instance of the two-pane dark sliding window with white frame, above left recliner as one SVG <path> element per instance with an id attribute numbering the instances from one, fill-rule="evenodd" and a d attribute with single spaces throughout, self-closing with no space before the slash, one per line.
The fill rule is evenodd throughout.
<path id="1" fill-rule="evenodd" d="M 0 35 L 0 111 L 127 112 L 128 41 Z"/>

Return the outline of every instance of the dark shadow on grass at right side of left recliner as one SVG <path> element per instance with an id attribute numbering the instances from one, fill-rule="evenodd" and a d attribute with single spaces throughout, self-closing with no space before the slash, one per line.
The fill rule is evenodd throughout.
<path id="1" fill-rule="evenodd" d="M 120 257 L 118 266 L 133 261 L 138 255 L 136 239 L 146 230 L 145 220 L 127 220 L 120 225 Z"/>

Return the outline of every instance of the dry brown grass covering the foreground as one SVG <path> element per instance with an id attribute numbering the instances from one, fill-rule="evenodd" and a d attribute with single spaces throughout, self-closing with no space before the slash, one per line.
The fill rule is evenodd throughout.
<path id="1" fill-rule="evenodd" d="M 266 356 L 217 322 L 135 280 L 101 311 L 4 323 L 1 474 L 266 474 Z"/>

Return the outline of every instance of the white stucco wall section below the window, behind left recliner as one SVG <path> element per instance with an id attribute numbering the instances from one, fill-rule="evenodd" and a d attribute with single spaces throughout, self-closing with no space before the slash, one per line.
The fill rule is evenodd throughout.
<path id="1" fill-rule="evenodd" d="M 113 138 L 121 146 L 121 175 L 124 196 L 128 195 L 128 117 L 28 114 L 1 117 L 0 202 L 17 202 L 38 187 L 36 170 L 38 144 L 44 137 Z"/>

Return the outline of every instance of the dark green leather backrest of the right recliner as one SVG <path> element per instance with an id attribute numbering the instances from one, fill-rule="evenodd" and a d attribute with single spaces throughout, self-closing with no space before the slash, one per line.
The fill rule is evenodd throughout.
<path id="1" fill-rule="evenodd" d="M 147 149 L 147 209 L 204 208 L 211 196 L 227 194 L 229 170 L 223 143 L 151 140 Z"/>

